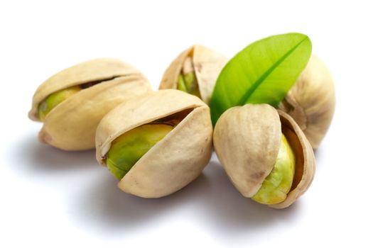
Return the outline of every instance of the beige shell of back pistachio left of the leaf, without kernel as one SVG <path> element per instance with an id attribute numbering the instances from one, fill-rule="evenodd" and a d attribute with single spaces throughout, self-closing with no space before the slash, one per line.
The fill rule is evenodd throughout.
<path id="1" fill-rule="evenodd" d="M 227 64 L 228 59 L 219 52 L 202 45 L 189 47 L 173 60 L 163 74 L 159 89 L 177 88 L 178 76 L 183 67 L 183 62 L 188 56 L 192 56 L 193 58 L 195 76 L 197 77 L 202 101 L 209 104 L 217 77 L 223 67 L 225 67 L 225 64 Z"/>

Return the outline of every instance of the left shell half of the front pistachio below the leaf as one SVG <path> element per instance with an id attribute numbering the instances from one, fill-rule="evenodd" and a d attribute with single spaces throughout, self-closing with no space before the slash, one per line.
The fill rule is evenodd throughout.
<path id="1" fill-rule="evenodd" d="M 243 196 L 252 197 L 279 154 L 279 114 L 267 104 L 229 108 L 217 120 L 213 140 L 230 181 Z"/>

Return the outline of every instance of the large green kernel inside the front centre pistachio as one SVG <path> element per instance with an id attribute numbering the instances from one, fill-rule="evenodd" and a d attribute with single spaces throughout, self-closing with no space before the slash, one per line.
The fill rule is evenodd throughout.
<path id="1" fill-rule="evenodd" d="M 173 126 L 167 124 L 145 124 L 117 137 L 107 152 L 107 168 L 121 180 L 134 164 L 172 129 Z"/>

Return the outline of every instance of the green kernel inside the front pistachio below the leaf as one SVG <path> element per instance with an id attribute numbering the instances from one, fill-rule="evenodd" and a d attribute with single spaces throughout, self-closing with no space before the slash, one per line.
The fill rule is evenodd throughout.
<path id="1" fill-rule="evenodd" d="M 284 201 L 293 184 L 295 164 L 293 150 L 291 150 L 285 135 L 282 134 L 274 169 L 252 199 L 262 204 L 276 204 Z"/>

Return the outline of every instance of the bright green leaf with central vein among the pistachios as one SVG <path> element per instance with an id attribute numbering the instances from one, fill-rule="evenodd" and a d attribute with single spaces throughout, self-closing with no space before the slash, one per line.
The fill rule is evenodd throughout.
<path id="1" fill-rule="evenodd" d="M 277 106 L 306 67 L 307 35 L 274 35 L 247 46 L 220 72 L 210 103 L 212 123 L 228 108 L 246 103 Z"/>

